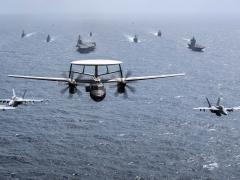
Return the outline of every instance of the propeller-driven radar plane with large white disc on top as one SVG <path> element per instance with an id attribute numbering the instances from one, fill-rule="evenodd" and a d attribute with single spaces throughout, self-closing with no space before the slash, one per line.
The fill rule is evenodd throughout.
<path id="1" fill-rule="evenodd" d="M 131 75 L 130 72 L 128 72 L 125 76 L 123 75 L 121 63 L 122 63 L 121 61 L 105 59 L 77 60 L 71 62 L 69 74 L 68 75 L 65 74 L 64 77 L 41 77 L 21 75 L 8 75 L 8 76 L 24 79 L 63 82 L 66 85 L 66 88 L 64 88 L 61 91 L 61 93 L 65 93 L 68 90 L 70 95 L 75 93 L 80 94 L 80 91 L 77 89 L 77 86 L 85 85 L 86 92 L 90 93 L 90 97 L 94 101 L 99 102 L 102 101 L 106 96 L 106 88 L 104 87 L 104 84 L 106 83 L 115 84 L 116 88 L 115 95 L 124 94 L 124 97 L 128 97 L 127 89 L 129 89 L 131 92 L 135 92 L 135 88 L 129 85 L 129 83 L 133 81 L 185 75 L 185 74 L 165 74 L 155 76 L 129 77 Z M 80 68 L 76 69 L 76 66 Z M 93 68 L 92 73 L 89 73 L 91 72 L 89 71 L 89 68 Z M 118 77 L 116 78 L 108 77 L 109 75 L 113 74 L 115 75 L 118 74 Z M 83 76 L 85 76 L 85 78 Z M 86 76 L 90 78 L 86 78 Z"/>

